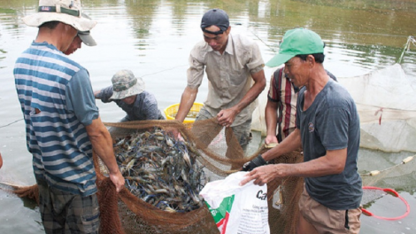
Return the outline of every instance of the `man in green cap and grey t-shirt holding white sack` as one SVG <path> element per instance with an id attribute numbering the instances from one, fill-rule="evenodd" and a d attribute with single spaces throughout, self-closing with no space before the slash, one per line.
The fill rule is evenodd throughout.
<path id="1" fill-rule="evenodd" d="M 358 233 L 363 193 L 357 168 L 358 111 L 348 91 L 329 79 L 322 65 L 323 51 L 320 35 L 296 28 L 283 36 L 279 54 L 266 63 L 284 63 L 290 81 L 302 87 L 296 129 L 281 144 L 243 166 L 250 173 L 242 184 L 302 176 L 297 233 Z M 266 165 L 301 146 L 304 162 Z"/>

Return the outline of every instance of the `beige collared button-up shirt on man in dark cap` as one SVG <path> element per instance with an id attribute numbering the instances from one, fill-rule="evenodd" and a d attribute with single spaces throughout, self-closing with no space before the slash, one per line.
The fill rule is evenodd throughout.
<path id="1" fill-rule="evenodd" d="M 188 86 L 198 88 L 208 77 L 208 97 L 205 108 L 215 116 L 222 109 L 236 105 L 250 90 L 251 74 L 264 67 L 258 44 L 241 35 L 228 35 L 226 50 L 221 55 L 204 41 L 197 43 L 189 55 Z M 254 110 L 248 105 L 235 117 L 232 126 L 251 119 Z"/>

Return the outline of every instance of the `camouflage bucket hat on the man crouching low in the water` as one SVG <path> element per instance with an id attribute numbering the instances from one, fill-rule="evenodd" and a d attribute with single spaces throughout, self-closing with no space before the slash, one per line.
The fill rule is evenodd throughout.
<path id="1" fill-rule="evenodd" d="M 120 70 L 112 76 L 112 98 L 123 99 L 142 93 L 144 82 L 130 70 Z"/>

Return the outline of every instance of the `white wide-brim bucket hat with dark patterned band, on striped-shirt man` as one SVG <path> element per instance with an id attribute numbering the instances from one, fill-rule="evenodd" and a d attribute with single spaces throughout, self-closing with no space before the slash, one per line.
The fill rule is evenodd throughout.
<path id="1" fill-rule="evenodd" d="M 96 26 L 96 21 L 82 17 L 81 0 L 39 0 L 38 12 L 23 18 L 31 27 L 50 21 L 63 22 L 82 32 Z"/>

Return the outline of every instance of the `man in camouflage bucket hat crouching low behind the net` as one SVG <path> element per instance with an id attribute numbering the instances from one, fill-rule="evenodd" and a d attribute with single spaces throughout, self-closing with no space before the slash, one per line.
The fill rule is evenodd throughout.
<path id="1" fill-rule="evenodd" d="M 127 113 L 121 121 L 165 120 L 158 101 L 144 90 L 142 78 L 130 70 L 120 70 L 112 76 L 112 86 L 94 92 L 104 103 L 115 102 Z"/>

